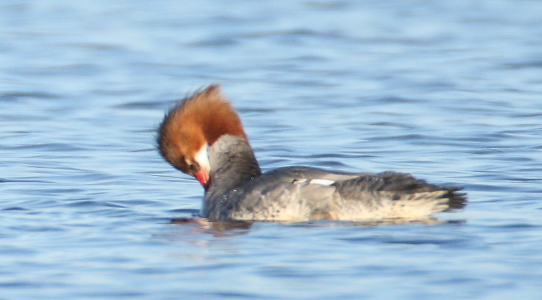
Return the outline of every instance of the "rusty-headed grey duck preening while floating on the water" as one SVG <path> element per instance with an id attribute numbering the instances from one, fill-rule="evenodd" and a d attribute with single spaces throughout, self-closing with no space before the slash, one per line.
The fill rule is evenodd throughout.
<path id="1" fill-rule="evenodd" d="M 307 166 L 262 173 L 241 119 L 211 84 L 164 116 L 159 153 L 204 188 L 199 217 L 209 221 L 424 220 L 466 205 L 461 187 L 409 173 L 328 171 Z"/>

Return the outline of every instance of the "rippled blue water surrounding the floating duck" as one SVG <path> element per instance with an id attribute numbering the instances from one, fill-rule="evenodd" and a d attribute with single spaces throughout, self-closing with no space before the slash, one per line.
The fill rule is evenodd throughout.
<path id="1" fill-rule="evenodd" d="M 538 1 L 0 3 L 0 299 L 540 299 Z M 221 82 L 264 169 L 463 186 L 444 224 L 171 224 L 158 155 Z"/>

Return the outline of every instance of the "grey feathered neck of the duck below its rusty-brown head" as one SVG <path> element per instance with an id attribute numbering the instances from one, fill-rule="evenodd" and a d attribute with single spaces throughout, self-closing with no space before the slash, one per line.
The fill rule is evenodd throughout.
<path id="1" fill-rule="evenodd" d="M 210 186 L 208 193 L 224 193 L 262 174 L 248 141 L 236 135 L 222 135 L 209 147 Z"/>

